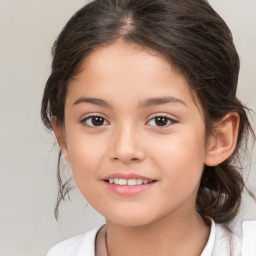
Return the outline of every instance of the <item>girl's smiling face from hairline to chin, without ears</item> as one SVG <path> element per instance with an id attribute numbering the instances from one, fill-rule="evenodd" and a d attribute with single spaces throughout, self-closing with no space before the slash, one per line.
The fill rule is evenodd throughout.
<path id="1" fill-rule="evenodd" d="M 63 134 L 78 188 L 107 221 L 136 226 L 196 212 L 202 111 L 158 54 L 119 41 L 86 57 L 69 85 Z"/>

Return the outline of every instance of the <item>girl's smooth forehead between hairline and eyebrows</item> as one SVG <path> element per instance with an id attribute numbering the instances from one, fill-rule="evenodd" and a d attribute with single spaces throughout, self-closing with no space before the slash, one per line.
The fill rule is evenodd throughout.
<path id="1" fill-rule="evenodd" d="M 179 97 L 194 104 L 185 77 L 158 52 L 117 41 L 98 48 L 83 59 L 70 84 L 72 94 L 109 98 Z M 87 95 L 84 95 L 87 96 Z"/>

